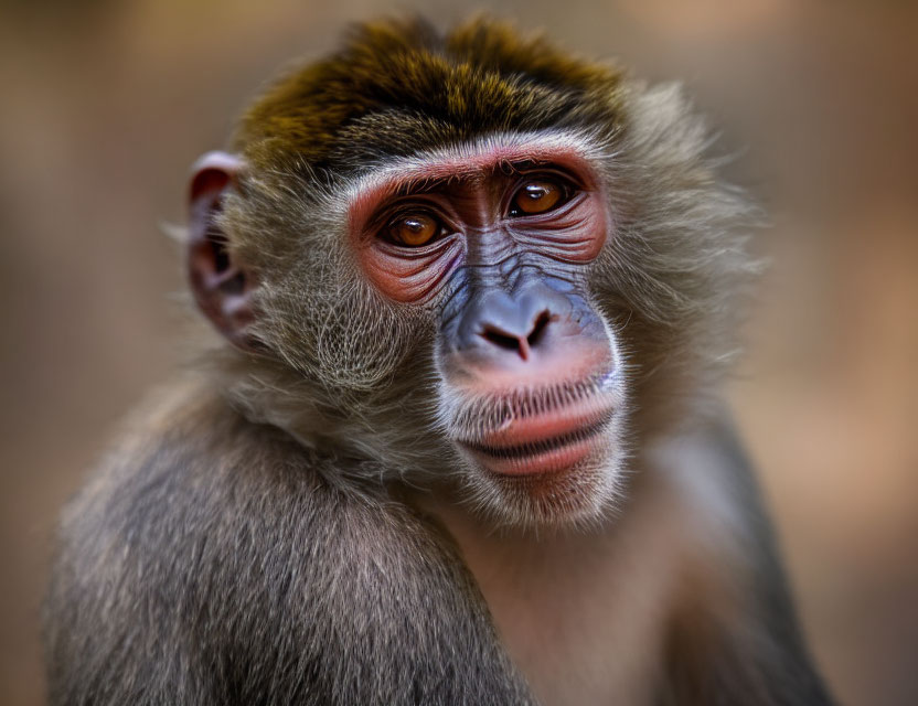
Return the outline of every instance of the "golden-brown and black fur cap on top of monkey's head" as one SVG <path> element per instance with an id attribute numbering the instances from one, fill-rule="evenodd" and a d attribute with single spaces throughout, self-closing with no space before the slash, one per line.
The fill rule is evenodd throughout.
<path id="1" fill-rule="evenodd" d="M 494 132 L 615 130 L 621 87 L 619 69 L 489 20 L 446 35 L 417 19 L 369 23 L 268 88 L 234 148 L 256 168 L 295 160 L 348 173 Z"/>

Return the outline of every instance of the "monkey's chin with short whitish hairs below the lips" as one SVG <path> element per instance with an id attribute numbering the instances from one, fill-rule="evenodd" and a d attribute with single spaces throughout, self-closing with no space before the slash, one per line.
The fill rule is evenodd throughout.
<path id="1" fill-rule="evenodd" d="M 465 481 L 472 507 L 500 526 L 589 527 L 608 517 L 621 493 L 619 460 L 608 446 L 543 472 L 497 472 L 466 457 Z"/>

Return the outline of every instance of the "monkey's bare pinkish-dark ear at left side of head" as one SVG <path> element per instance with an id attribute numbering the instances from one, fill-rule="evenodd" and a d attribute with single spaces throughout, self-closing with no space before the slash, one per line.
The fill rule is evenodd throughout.
<path id="1" fill-rule="evenodd" d="M 236 261 L 220 224 L 224 195 L 236 188 L 241 158 L 207 152 L 192 168 L 189 188 L 188 272 L 201 311 L 234 345 L 256 347 L 250 328 L 252 272 Z"/>

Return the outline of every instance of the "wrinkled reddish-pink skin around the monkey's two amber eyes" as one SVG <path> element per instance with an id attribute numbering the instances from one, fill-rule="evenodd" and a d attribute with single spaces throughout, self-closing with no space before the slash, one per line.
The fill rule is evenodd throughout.
<path id="1" fill-rule="evenodd" d="M 544 168 L 566 174 L 577 193 L 551 213 L 506 217 L 514 180 L 502 169 L 522 164 L 532 173 Z M 413 201 L 413 194 L 420 196 L 419 203 L 437 206 L 444 236 L 414 248 L 378 237 L 386 208 Z M 491 257 L 530 249 L 558 261 L 587 263 L 602 247 L 608 214 L 595 173 L 577 151 L 516 145 L 393 170 L 352 200 L 350 224 L 361 266 L 380 291 L 402 303 L 425 303 L 441 291 L 456 267 L 474 264 L 481 245 L 490 248 Z"/>

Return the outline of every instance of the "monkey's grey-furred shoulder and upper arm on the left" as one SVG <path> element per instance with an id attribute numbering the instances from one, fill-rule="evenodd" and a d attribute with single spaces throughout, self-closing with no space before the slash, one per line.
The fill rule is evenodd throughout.
<path id="1" fill-rule="evenodd" d="M 65 515 L 55 683 L 97 673 L 127 689 L 110 703 L 526 703 L 455 549 L 317 463 L 218 400 L 136 418 Z M 178 672 L 201 694 L 177 697 Z"/>

